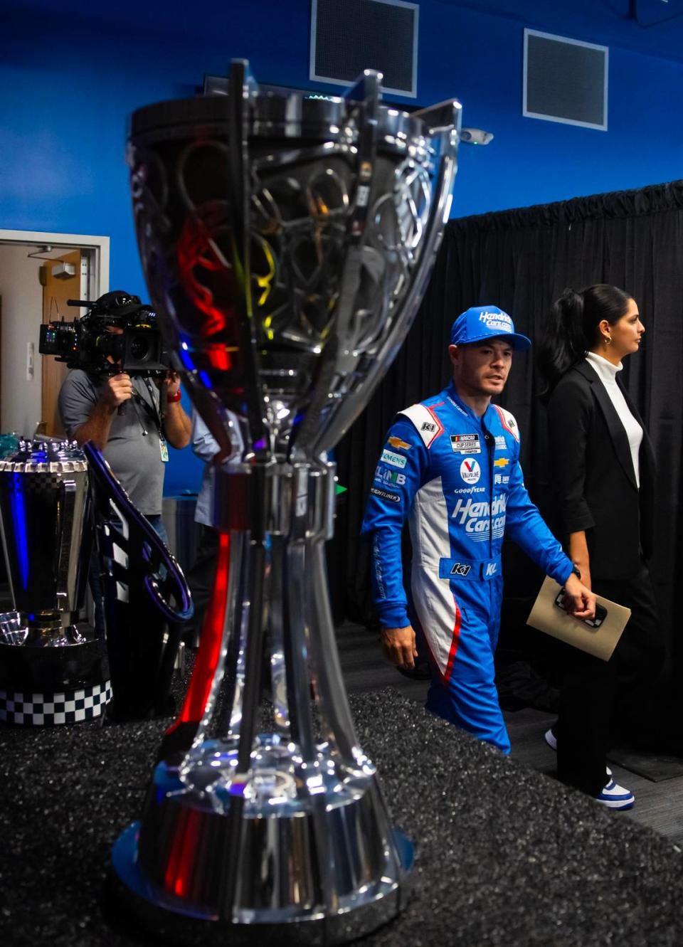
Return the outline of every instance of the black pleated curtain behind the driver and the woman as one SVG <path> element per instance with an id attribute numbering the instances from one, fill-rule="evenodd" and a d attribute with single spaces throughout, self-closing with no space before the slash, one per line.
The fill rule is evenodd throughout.
<path id="1" fill-rule="evenodd" d="M 541 335 L 550 303 L 566 286 L 582 289 L 605 282 L 633 295 L 646 329 L 640 352 L 624 362 L 622 378 L 655 445 L 653 575 L 675 652 L 675 588 L 683 582 L 682 252 L 683 181 L 447 223 L 434 275 L 407 341 L 336 451 L 339 480 L 349 492 L 338 510 L 332 562 L 347 616 L 368 620 L 368 551 L 359 543 L 358 532 L 386 428 L 398 410 L 437 393 L 447 381 L 446 347 L 454 318 L 469 306 L 495 304 L 533 341 Z M 532 355 L 515 355 L 500 403 L 519 421 L 527 485 L 544 509 L 548 431 L 538 384 Z M 515 570 L 512 562 L 508 589 L 511 575 L 516 581 L 523 574 L 525 568 Z M 683 648 L 678 658 L 682 656 Z"/>

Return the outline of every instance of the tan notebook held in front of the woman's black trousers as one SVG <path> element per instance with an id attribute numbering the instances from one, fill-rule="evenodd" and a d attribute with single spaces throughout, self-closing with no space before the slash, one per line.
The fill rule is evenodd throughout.
<path id="1" fill-rule="evenodd" d="M 538 598 L 533 603 L 527 624 L 532 628 L 537 628 L 539 632 L 545 632 L 554 638 L 559 638 L 560 641 L 566 641 L 566 644 L 574 648 L 594 654 L 595 657 L 602 658 L 602 661 L 609 661 L 612 652 L 617 647 L 621 632 L 631 617 L 631 609 L 598 596 L 594 624 L 599 621 L 600 625 L 597 628 L 591 627 L 581 618 L 566 614 L 566 611 L 558 604 L 562 600 L 561 593 L 562 586 L 547 576 L 538 593 Z"/>

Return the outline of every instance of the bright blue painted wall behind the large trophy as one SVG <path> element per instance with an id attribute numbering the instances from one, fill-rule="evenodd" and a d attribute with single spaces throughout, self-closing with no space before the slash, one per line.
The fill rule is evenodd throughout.
<path id="1" fill-rule="evenodd" d="M 343 0 L 340 0 L 343 2 Z M 0 31 L 0 226 L 106 234 L 112 288 L 146 295 L 130 213 L 126 116 L 189 96 L 246 57 L 262 81 L 308 80 L 309 0 L 198 6 L 119 0 L 4 4 Z M 683 175 L 683 21 L 643 29 L 628 0 L 422 0 L 418 101 L 456 95 L 493 131 L 461 149 L 454 216 L 638 188 Z M 200 18 L 201 15 L 201 18 Z M 521 116 L 523 28 L 610 46 L 609 131 Z M 330 87 L 338 92 L 338 87 Z M 167 491 L 199 465 L 175 455 Z"/>

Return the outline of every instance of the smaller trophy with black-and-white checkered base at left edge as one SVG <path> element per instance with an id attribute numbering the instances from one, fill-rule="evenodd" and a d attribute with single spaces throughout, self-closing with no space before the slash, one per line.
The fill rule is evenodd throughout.
<path id="1" fill-rule="evenodd" d="M 22 440 L 0 459 L 13 612 L 0 615 L 0 720 L 69 724 L 111 697 L 104 642 L 76 627 L 90 560 L 88 470 L 75 443 Z"/>

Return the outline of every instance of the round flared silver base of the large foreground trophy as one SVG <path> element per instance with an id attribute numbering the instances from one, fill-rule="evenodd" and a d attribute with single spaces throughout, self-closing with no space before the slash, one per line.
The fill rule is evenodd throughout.
<path id="1" fill-rule="evenodd" d="M 260 743 L 242 775 L 235 743 L 205 742 L 191 788 L 177 764 L 159 763 L 142 823 L 113 850 L 118 900 L 154 934 L 198 944 L 322 947 L 394 918 L 413 852 L 400 832 L 388 846 L 375 837 L 372 767 L 342 773 L 321 748 L 306 774 L 294 744 Z M 304 781 L 316 792 L 302 795 Z"/>

